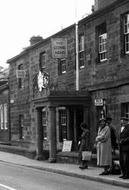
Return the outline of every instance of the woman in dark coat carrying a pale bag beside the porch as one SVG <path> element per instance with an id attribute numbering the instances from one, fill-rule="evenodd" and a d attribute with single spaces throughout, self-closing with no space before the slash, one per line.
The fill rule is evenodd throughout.
<path id="1" fill-rule="evenodd" d="M 80 137 L 80 147 L 79 147 L 79 162 L 80 162 L 80 169 L 87 169 L 88 168 L 88 161 L 82 160 L 82 152 L 89 150 L 89 129 L 86 123 L 81 123 L 80 125 L 82 129 L 82 134 Z"/>

